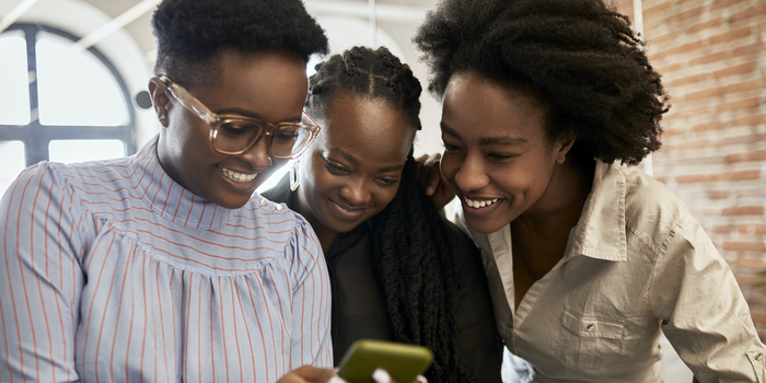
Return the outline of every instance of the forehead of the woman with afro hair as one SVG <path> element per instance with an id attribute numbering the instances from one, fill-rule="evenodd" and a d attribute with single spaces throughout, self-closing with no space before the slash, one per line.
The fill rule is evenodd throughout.
<path id="1" fill-rule="evenodd" d="M 545 108 L 523 86 L 462 72 L 452 77 L 444 92 L 442 126 L 453 136 L 479 139 L 546 135 Z"/>

